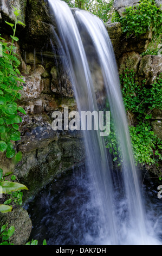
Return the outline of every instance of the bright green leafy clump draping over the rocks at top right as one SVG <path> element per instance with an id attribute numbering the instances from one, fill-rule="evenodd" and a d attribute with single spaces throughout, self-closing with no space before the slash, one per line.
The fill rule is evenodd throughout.
<path id="1" fill-rule="evenodd" d="M 154 0 L 142 0 L 138 5 L 125 8 L 124 16 L 113 15 L 112 22 L 121 22 L 122 31 L 127 38 L 131 35 L 139 36 L 150 29 L 154 35 L 161 34 L 162 11 Z"/>

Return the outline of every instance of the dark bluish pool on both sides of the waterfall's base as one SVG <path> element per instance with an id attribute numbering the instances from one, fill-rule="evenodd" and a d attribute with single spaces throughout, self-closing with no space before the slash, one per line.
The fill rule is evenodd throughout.
<path id="1" fill-rule="evenodd" d="M 34 200 L 25 206 L 33 223 L 30 241 L 36 239 L 39 245 L 44 239 L 47 240 L 47 245 L 109 244 L 108 240 L 98 239 L 99 230 L 95 226 L 98 222 L 98 207 L 90 200 L 89 182 L 86 178 L 84 168 L 63 175 L 44 187 Z M 152 239 L 157 241 L 150 240 L 151 244 L 152 241 L 153 244 L 162 244 L 162 198 L 158 198 L 159 185 L 158 179 L 148 175 L 142 182 L 148 231 Z M 122 223 L 122 216 L 120 218 Z M 133 239 L 134 234 L 131 236 Z M 128 241 L 125 243 L 129 244 Z M 131 240 L 130 243 L 136 244 L 138 240 Z"/>

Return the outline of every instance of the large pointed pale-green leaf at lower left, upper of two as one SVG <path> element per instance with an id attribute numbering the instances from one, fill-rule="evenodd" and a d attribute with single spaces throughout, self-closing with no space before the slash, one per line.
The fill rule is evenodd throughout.
<path id="1" fill-rule="evenodd" d="M 28 190 L 25 185 L 11 181 L 0 181 L 0 186 L 2 186 L 3 193 L 10 193 L 17 190 Z"/>

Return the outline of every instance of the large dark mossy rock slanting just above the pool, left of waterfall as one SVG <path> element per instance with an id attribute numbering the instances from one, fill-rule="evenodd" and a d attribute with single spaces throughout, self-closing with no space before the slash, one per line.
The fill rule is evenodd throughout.
<path id="1" fill-rule="evenodd" d="M 28 187 L 24 202 L 33 197 L 42 187 L 85 160 L 82 138 L 60 137 L 43 148 L 23 154 L 15 168 L 18 181 Z"/>

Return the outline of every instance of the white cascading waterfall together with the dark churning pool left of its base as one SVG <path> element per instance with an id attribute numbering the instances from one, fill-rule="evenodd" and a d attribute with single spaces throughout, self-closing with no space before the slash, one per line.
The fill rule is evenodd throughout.
<path id="1" fill-rule="evenodd" d="M 42 232 L 48 234 L 49 244 L 55 245 L 160 244 L 154 238 L 144 206 L 145 198 L 141 196 L 118 69 L 106 28 L 98 17 L 87 11 L 72 10 L 60 0 L 49 0 L 49 4 L 79 113 L 99 112 L 92 62 L 100 66 L 104 88 L 98 90 L 104 91 L 109 101 L 123 162 L 119 173 L 114 172 L 100 131 L 82 131 L 85 167 L 73 172 L 70 179 L 65 178 L 60 191 L 59 185 L 58 190 L 57 185 L 48 187 L 49 192 L 46 190 L 46 198 L 43 197 L 46 203 L 41 210 L 44 224 L 37 232 L 40 236 Z M 40 204 L 38 202 L 38 208 Z"/>

